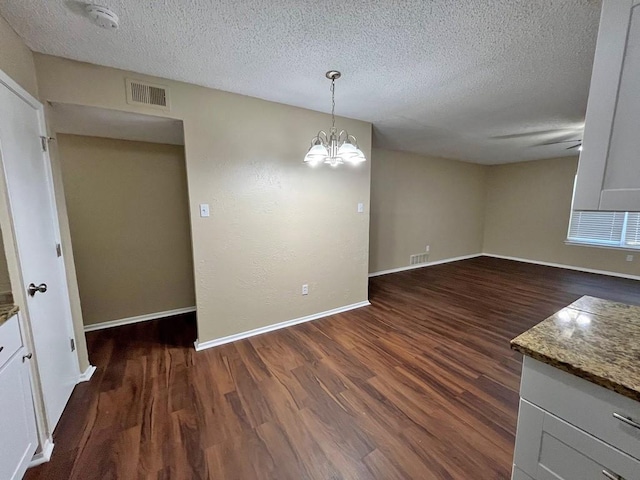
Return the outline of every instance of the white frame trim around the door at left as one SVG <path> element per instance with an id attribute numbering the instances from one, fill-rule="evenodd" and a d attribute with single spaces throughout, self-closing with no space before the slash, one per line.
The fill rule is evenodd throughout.
<path id="1" fill-rule="evenodd" d="M 37 112 L 39 133 L 43 137 L 47 137 L 44 106 L 40 101 L 33 97 L 29 92 L 22 88 L 18 83 L 11 79 L 4 71 L 0 70 L 0 85 L 8 88 L 14 95 L 17 95 L 21 100 L 25 101 Z M 55 198 L 55 186 L 53 182 L 53 171 L 51 168 L 51 158 L 49 156 L 49 148 L 42 152 L 43 159 L 45 161 L 45 172 L 47 177 L 47 189 L 51 201 L 50 215 L 53 220 L 53 228 L 55 235 L 55 242 L 62 244 L 60 233 L 60 222 L 58 218 L 58 210 Z M 0 150 L 0 160 L 2 158 L 2 151 Z M 2 237 L 4 240 L 4 253 L 7 257 L 7 265 L 9 270 L 9 278 L 11 279 L 11 290 L 14 298 L 14 302 L 20 307 L 20 320 L 21 331 L 24 337 L 25 345 L 29 351 L 35 351 L 35 343 L 33 340 L 33 333 L 31 330 L 31 320 L 29 316 L 29 306 L 27 303 L 24 277 L 22 275 L 22 266 L 20 261 L 20 254 L 18 252 L 18 240 L 16 238 L 15 229 L 13 225 L 11 199 L 9 198 L 9 191 L 7 188 L 7 178 L 5 176 L 4 168 L 0 168 L 0 226 L 2 230 Z M 66 327 L 69 338 L 73 339 L 76 346 L 78 344 L 74 325 L 73 316 L 71 311 L 71 301 L 69 295 L 69 284 L 66 275 L 66 266 L 64 263 L 64 257 L 60 259 L 60 281 L 64 288 L 64 303 L 65 313 L 67 317 Z M 81 381 L 82 372 L 80 372 L 80 362 L 78 358 L 78 350 L 76 348 L 74 355 L 74 362 L 78 379 L 76 384 Z M 33 457 L 31 466 L 43 463 L 49 460 L 53 451 L 53 429 L 49 425 L 47 419 L 45 400 L 42 391 L 42 385 L 40 383 L 39 370 L 37 365 L 37 356 L 30 363 L 30 375 L 31 386 L 33 393 L 33 402 L 36 412 L 36 424 L 38 430 L 39 447 L 36 454 Z"/>

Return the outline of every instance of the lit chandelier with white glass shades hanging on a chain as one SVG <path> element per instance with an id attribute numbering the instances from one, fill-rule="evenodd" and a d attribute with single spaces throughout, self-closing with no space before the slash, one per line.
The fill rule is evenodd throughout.
<path id="1" fill-rule="evenodd" d="M 311 166 L 326 163 L 332 167 L 337 167 L 344 163 L 357 165 L 366 161 L 366 157 L 362 150 L 358 148 L 358 141 L 353 135 L 349 135 L 346 130 L 340 131 L 336 129 L 336 80 L 340 78 L 341 73 L 337 70 L 329 70 L 326 77 L 331 80 L 331 130 L 329 134 L 320 131 L 318 135 L 311 140 L 311 148 L 304 157 L 305 163 Z"/>

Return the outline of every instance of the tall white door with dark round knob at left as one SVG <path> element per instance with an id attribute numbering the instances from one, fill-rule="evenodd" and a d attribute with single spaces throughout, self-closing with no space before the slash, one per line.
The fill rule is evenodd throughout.
<path id="1" fill-rule="evenodd" d="M 9 194 L 23 288 L 43 390 L 49 431 L 53 432 L 79 378 L 71 349 L 73 330 L 62 257 L 58 257 L 57 214 L 48 155 L 43 153 L 42 106 L 0 83 L 0 159 Z M 44 290 L 43 286 L 41 290 Z"/>

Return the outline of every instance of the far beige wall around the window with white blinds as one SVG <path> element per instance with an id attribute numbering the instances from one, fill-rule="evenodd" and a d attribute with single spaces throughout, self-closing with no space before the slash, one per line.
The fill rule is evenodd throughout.
<path id="1" fill-rule="evenodd" d="M 565 245 L 576 169 L 577 157 L 489 167 L 484 252 L 640 275 L 633 252 Z"/>

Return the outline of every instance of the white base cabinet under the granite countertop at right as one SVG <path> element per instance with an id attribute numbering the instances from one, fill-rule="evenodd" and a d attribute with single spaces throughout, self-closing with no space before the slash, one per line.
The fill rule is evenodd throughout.
<path id="1" fill-rule="evenodd" d="M 640 403 L 524 358 L 513 480 L 640 480 Z"/>

